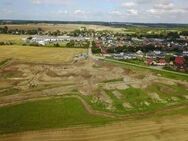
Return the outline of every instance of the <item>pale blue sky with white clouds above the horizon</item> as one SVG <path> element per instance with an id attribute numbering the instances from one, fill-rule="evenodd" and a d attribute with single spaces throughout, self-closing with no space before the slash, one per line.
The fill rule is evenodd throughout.
<path id="1" fill-rule="evenodd" d="M 188 0 L 0 0 L 0 19 L 188 23 Z"/>

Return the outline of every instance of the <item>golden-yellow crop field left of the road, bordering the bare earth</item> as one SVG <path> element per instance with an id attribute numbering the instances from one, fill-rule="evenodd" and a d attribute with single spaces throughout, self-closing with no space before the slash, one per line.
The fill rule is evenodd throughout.
<path id="1" fill-rule="evenodd" d="M 25 62 L 64 63 L 71 61 L 75 55 L 86 51 L 85 49 L 75 48 L 0 46 L 0 60 L 12 58 Z"/>

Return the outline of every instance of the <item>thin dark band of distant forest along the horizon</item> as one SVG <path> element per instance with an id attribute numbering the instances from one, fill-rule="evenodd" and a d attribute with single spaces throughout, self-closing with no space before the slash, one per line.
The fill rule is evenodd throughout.
<path id="1" fill-rule="evenodd" d="M 171 23 L 128 23 L 128 22 L 98 22 L 98 21 L 36 21 L 36 20 L 0 20 L 0 25 L 5 24 L 86 24 L 86 25 L 103 25 L 111 27 L 152 27 L 152 28 L 188 28 L 188 24 L 171 24 Z"/>

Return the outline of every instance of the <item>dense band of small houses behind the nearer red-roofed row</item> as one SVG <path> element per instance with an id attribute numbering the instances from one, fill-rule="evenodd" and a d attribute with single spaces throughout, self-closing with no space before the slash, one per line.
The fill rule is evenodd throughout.
<path id="1" fill-rule="evenodd" d="M 115 37 L 115 36 L 102 36 L 94 38 L 98 48 L 105 50 L 106 48 L 119 48 L 119 47 L 144 47 L 144 46 L 153 46 L 155 48 L 164 48 L 168 50 L 173 50 L 178 48 L 184 50 L 188 48 L 188 39 L 187 38 L 178 38 L 174 41 L 170 39 L 161 39 L 161 38 L 137 38 L 137 37 Z"/>

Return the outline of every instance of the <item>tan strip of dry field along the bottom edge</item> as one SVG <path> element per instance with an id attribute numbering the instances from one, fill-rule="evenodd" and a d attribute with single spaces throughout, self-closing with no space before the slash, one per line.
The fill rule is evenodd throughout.
<path id="1" fill-rule="evenodd" d="M 77 127 L 0 136 L 0 141 L 187 141 L 188 116 L 127 120 L 103 127 Z"/>

